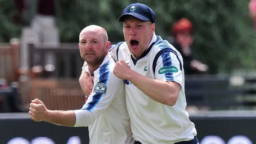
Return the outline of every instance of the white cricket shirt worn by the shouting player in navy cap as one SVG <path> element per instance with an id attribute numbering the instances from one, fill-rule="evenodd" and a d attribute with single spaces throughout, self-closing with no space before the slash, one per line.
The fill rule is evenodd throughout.
<path id="1" fill-rule="evenodd" d="M 134 139 L 142 144 L 174 144 L 192 140 L 196 136 L 196 128 L 185 110 L 184 70 L 180 53 L 155 34 L 138 59 L 130 54 L 126 42 L 111 46 L 110 53 L 115 60 L 125 60 L 132 70 L 143 76 L 177 82 L 182 86 L 176 104 L 167 106 L 152 100 L 126 80 L 126 105 Z"/>

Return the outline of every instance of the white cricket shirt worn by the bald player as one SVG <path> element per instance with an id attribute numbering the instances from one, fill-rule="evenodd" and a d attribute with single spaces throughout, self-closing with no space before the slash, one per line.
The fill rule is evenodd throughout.
<path id="1" fill-rule="evenodd" d="M 76 124 L 89 127 L 90 144 L 134 144 L 123 80 L 113 74 L 110 54 L 94 71 L 94 87 L 81 110 L 74 110 Z M 88 66 L 83 70 L 88 72 Z"/>

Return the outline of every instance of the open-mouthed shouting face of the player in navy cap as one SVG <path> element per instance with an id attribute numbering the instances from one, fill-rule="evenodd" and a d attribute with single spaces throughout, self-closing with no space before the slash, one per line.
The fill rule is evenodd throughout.
<path id="1" fill-rule="evenodd" d="M 154 34 L 155 24 L 141 21 L 132 16 L 124 20 L 124 39 L 132 54 L 138 58 L 148 47 Z"/>

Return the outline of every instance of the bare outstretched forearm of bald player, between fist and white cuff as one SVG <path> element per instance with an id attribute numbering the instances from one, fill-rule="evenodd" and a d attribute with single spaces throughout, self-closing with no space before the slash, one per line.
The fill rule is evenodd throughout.
<path id="1" fill-rule="evenodd" d="M 76 124 L 76 114 L 73 110 L 48 110 L 45 121 L 61 126 L 74 126 Z"/>

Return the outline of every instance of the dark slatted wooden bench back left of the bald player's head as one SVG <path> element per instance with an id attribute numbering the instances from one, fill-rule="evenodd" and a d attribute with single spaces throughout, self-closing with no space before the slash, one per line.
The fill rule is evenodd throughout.
<path id="1" fill-rule="evenodd" d="M 30 68 L 34 65 L 46 66 L 46 54 L 54 55 L 55 69 L 48 71 L 43 68 L 41 77 L 51 78 L 78 78 L 82 71 L 83 60 L 80 56 L 78 44 L 61 44 L 58 47 L 29 45 Z M 39 62 L 35 62 L 35 54 L 39 56 Z M 37 64 L 38 63 L 38 64 Z"/>

